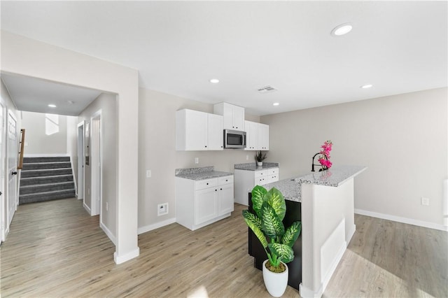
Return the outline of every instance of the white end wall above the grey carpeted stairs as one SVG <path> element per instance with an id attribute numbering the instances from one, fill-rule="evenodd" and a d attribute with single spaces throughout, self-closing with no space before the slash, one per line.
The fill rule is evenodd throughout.
<path id="1" fill-rule="evenodd" d="M 22 128 L 25 129 L 25 155 L 67 153 L 67 116 L 57 117 L 59 132 L 47 134 L 44 113 L 22 111 Z"/>

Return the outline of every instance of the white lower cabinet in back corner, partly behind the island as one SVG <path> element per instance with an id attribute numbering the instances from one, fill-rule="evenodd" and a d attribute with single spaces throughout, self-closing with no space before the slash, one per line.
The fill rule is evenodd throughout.
<path id="1" fill-rule="evenodd" d="M 279 168 L 248 171 L 235 169 L 235 203 L 248 206 L 248 193 L 255 185 L 265 185 L 279 180 Z"/>

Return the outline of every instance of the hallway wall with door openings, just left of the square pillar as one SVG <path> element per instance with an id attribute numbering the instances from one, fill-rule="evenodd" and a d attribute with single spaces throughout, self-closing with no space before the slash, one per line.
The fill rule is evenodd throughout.
<path id="1" fill-rule="evenodd" d="M 94 113 L 101 110 L 101 136 L 102 136 L 102 223 L 109 230 L 113 238 L 116 236 L 116 95 L 102 93 L 92 104 L 87 106 L 78 117 L 78 123 L 85 120 L 85 123 L 92 123 L 90 118 Z M 75 125 L 76 127 L 76 125 Z M 90 151 L 90 158 L 92 151 Z M 92 190 L 92 164 L 85 165 L 85 190 Z M 85 204 L 92 208 L 91 195 L 85 192 Z M 109 205 L 106 210 L 106 204 Z"/>

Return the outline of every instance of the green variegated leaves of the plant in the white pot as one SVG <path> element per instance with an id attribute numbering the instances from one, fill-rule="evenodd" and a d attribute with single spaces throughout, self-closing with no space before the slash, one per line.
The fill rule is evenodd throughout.
<path id="1" fill-rule="evenodd" d="M 260 185 L 252 190 L 252 208 L 255 213 L 244 210 L 243 217 L 248 227 L 265 248 L 272 267 L 294 259 L 293 245 L 302 230 L 302 222 L 293 222 L 290 227 L 283 225 L 286 203 L 283 194 L 275 187 L 269 192 Z"/>

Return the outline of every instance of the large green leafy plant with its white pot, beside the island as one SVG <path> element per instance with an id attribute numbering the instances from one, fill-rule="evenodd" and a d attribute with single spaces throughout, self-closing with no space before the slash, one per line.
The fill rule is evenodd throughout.
<path id="1" fill-rule="evenodd" d="M 267 292 L 280 297 L 288 285 L 286 263 L 294 259 L 293 245 L 300 235 L 302 223 L 293 222 L 285 229 L 282 220 L 286 203 L 283 194 L 275 187 L 269 192 L 260 185 L 253 187 L 252 208 L 254 213 L 244 210 L 243 217 L 266 251 L 267 260 L 262 264 L 262 272 Z"/>

